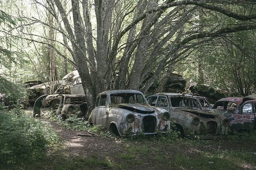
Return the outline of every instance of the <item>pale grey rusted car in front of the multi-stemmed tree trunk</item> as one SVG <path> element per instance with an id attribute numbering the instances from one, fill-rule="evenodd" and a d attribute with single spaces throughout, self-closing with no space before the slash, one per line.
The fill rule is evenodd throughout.
<path id="1" fill-rule="evenodd" d="M 102 125 L 117 136 L 157 134 L 170 130 L 170 114 L 148 105 L 140 91 L 112 90 L 99 94 L 89 116 L 93 125 Z"/>

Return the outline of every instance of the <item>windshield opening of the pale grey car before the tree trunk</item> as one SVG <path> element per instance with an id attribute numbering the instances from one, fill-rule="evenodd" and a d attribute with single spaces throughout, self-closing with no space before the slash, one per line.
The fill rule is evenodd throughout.
<path id="1" fill-rule="evenodd" d="M 145 98 L 141 94 L 111 94 L 110 98 L 112 105 L 119 105 L 121 103 L 147 103 Z"/>

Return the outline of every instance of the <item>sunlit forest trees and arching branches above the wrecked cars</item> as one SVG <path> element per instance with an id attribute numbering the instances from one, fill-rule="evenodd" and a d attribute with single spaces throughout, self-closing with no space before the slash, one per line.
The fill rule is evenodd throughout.
<path id="1" fill-rule="evenodd" d="M 2 0 L 1 93 L 77 69 L 91 106 L 109 89 L 157 81 L 163 91 L 171 73 L 246 96 L 256 91 L 255 28 L 254 0 Z"/>

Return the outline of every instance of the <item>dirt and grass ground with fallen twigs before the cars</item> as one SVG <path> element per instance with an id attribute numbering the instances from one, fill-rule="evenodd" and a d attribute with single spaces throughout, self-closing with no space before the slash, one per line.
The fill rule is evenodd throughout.
<path id="1" fill-rule="evenodd" d="M 40 120 L 58 132 L 61 144 L 26 170 L 256 170 L 256 133 L 218 140 L 80 136 L 90 133 Z"/>

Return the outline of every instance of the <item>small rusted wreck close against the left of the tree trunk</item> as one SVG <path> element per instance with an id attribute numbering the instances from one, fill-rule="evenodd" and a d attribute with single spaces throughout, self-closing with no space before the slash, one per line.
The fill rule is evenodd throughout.
<path id="1" fill-rule="evenodd" d="M 88 105 L 84 95 L 62 94 L 60 105 L 56 115 L 60 115 L 63 120 L 76 114 L 78 118 L 85 118 L 88 111 Z"/>

